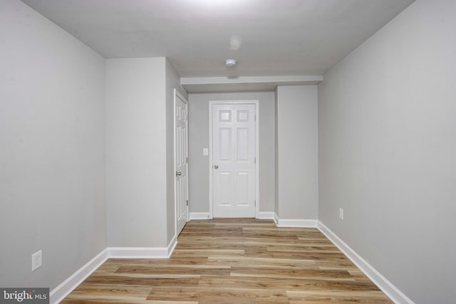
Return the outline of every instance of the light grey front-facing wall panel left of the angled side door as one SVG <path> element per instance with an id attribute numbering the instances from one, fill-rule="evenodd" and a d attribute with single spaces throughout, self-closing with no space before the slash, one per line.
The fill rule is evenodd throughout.
<path id="1" fill-rule="evenodd" d="M 106 60 L 108 246 L 167 246 L 165 58 Z"/>

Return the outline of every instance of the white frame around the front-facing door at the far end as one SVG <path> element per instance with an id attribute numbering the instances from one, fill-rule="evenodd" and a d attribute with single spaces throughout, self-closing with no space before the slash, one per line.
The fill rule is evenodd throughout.
<path id="1" fill-rule="evenodd" d="M 259 216 L 259 100 L 209 100 L 209 219 L 214 218 L 212 107 L 213 105 L 255 105 L 255 217 Z"/>

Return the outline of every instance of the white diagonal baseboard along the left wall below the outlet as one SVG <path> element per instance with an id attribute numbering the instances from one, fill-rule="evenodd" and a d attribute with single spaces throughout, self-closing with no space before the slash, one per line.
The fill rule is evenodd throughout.
<path id="1" fill-rule="evenodd" d="M 73 273 L 63 283 L 51 290 L 49 293 L 49 303 L 60 303 L 63 298 L 71 293 L 79 284 L 83 283 L 93 271 L 95 271 L 101 264 L 105 263 L 108 259 L 108 248 L 98 253 L 95 258 L 92 258 L 86 265 L 79 268 L 76 273 Z"/>

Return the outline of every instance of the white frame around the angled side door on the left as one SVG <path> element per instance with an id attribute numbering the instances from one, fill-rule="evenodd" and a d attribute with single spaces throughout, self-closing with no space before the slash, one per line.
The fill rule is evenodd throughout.
<path id="1" fill-rule="evenodd" d="M 184 95 L 182 95 L 177 89 L 174 89 L 174 97 L 173 97 L 173 119 L 172 119 L 172 123 L 173 123 L 173 126 L 172 126 L 172 130 L 173 130 L 173 135 L 172 135 L 172 146 L 173 146 L 173 154 L 174 154 L 174 159 L 172 159 L 172 162 L 173 162 L 173 173 L 177 172 L 177 167 L 176 167 L 176 156 L 177 156 L 177 151 L 176 151 L 176 98 L 180 98 L 180 100 L 182 100 L 185 105 L 187 105 L 187 121 L 185 122 L 186 124 L 186 133 L 187 133 L 187 147 L 186 147 L 186 152 L 187 153 L 187 157 L 188 157 L 188 147 L 189 147 L 189 138 L 188 138 L 188 120 L 189 120 L 189 117 L 190 115 L 188 114 L 188 100 L 187 98 L 184 97 Z M 187 196 L 187 201 L 189 199 L 189 189 L 188 189 L 188 180 L 189 180 L 189 168 L 188 168 L 188 159 L 187 159 L 187 164 L 185 164 L 185 166 L 187 167 L 187 186 L 186 186 L 186 189 L 187 189 L 187 193 L 185 194 Z M 176 192 L 177 192 L 177 182 L 176 182 L 176 179 L 174 177 L 174 229 L 175 229 L 175 237 L 177 238 L 178 234 L 177 234 L 177 195 L 176 195 Z M 190 201 L 189 203 L 187 204 L 187 219 L 185 219 L 185 221 L 189 221 L 190 219 Z"/>

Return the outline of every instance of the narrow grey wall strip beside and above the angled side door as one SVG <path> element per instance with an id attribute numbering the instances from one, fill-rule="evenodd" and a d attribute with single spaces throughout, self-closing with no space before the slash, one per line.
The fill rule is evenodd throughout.
<path id="1" fill-rule="evenodd" d="M 176 236 L 175 223 L 175 159 L 174 159 L 174 89 L 185 98 L 187 92 L 180 85 L 180 77 L 166 60 L 166 193 L 167 193 L 167 243 Z"/>

